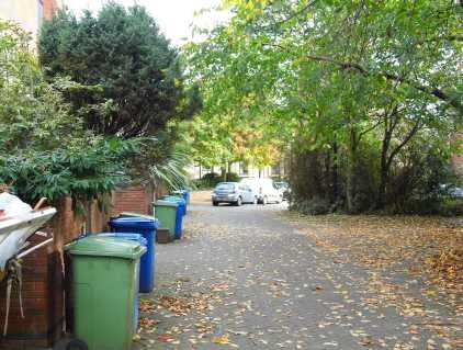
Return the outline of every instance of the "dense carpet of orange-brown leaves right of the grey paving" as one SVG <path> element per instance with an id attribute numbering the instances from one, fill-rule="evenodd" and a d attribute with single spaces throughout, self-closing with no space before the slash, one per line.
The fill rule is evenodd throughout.
<path id="1" fill-rule="evenodd" d="M 442 336 L 453 334 L 454 342 L 442 348 L 463 347 L 463 323 L 433 321 L 432 314 L 436 313 L 429 309 L 431 301 L 431 304 L 434 302 L 453 311 L 460 320 L 463 317 L 462 218 L 373 215 L 303 217 L 294 213 L 285 213 L 284 217 L 313 239 L 316 246 L 332 255 L 336 263 L 353 263 L 376 271 L 371 287 L 379 298 L 373 303 L 392 302 L 404 315 L 428 317 L 427 321 L 416 325 L 417 335 L 426 328 Z M 382 272 L 386 275 L 405 273 L 406 278 L 385 283 L 379 278 Z M 417 281 L 415 279 L 421 282 L 419 294 L 417 297 L 404 296 L 409 282 Z M 433 349 L 432 342 L 429 348 Z"/>

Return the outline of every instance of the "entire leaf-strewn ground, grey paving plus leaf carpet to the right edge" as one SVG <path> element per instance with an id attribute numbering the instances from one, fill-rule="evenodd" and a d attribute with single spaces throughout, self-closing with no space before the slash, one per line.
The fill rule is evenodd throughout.
<path id="1" fill-rule="evenodd" d="M 135 349 L 460 349 L 461 218 L 212 207 L 158 246 Z"/>

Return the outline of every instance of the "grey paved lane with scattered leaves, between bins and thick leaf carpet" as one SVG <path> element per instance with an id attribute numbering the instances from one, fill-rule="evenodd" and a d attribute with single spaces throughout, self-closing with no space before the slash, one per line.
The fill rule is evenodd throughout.
<path id="1" fill-rule="evenodd" d="M 284 204 L 190 208 L 184 238 L 157 247 L 134 349 L 453 348 L 293 229 Z"/>

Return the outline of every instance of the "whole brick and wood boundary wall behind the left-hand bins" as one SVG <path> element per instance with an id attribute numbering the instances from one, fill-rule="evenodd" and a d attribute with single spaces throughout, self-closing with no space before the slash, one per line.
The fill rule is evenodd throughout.
<path id="1" fill-rule="evenodd" d="M 69 266 L 66 267 L 65 280 L 63 247 L 84 232 L 108 232 L 111 216 L 122 212 L 151 214 L 154 192 L 153 185 L 118 187 L 100 201 L 84 203 L 84 216 L 76 214 L 70 197 L 65 197 L 55 204 L 58 213 L 49 225 L 54 244 L 24 258 L 22 295 L 25 318 L 21 318 L 18 289 L 13 289 L 8 335 L 0 337 L 0 349 L 37 349 L 54 346 L 65 327 L 65 291 L 70 290 Z M 30 241 L 35 245 L 45 239 L 47 238 L 33 235 Z M 0 282 L 1 326 L 5 314 L 5 291 L 7 281 L 2 281 Z M 66 305 L 66 323 L 69 329 L 72 311 L 69 305 Z"/>

